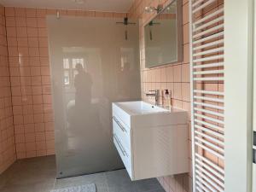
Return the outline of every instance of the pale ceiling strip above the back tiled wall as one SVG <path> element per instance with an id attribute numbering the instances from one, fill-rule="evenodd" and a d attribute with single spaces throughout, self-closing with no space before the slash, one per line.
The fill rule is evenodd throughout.
<path id="1" fill-rule="evenodd" d="M 5 7 L 127 12 L 134 0 L 0 0 Z M 76 3 L 77 2 L 77 3 Z"/>

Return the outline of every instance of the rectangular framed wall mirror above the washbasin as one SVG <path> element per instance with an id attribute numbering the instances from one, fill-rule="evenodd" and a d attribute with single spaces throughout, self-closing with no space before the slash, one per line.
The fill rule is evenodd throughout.
<path id="1" fill-rule="evenodd" d="M 146 67 L 183 59 L 182 0 L 174 0 L 144 26 Z"/>

